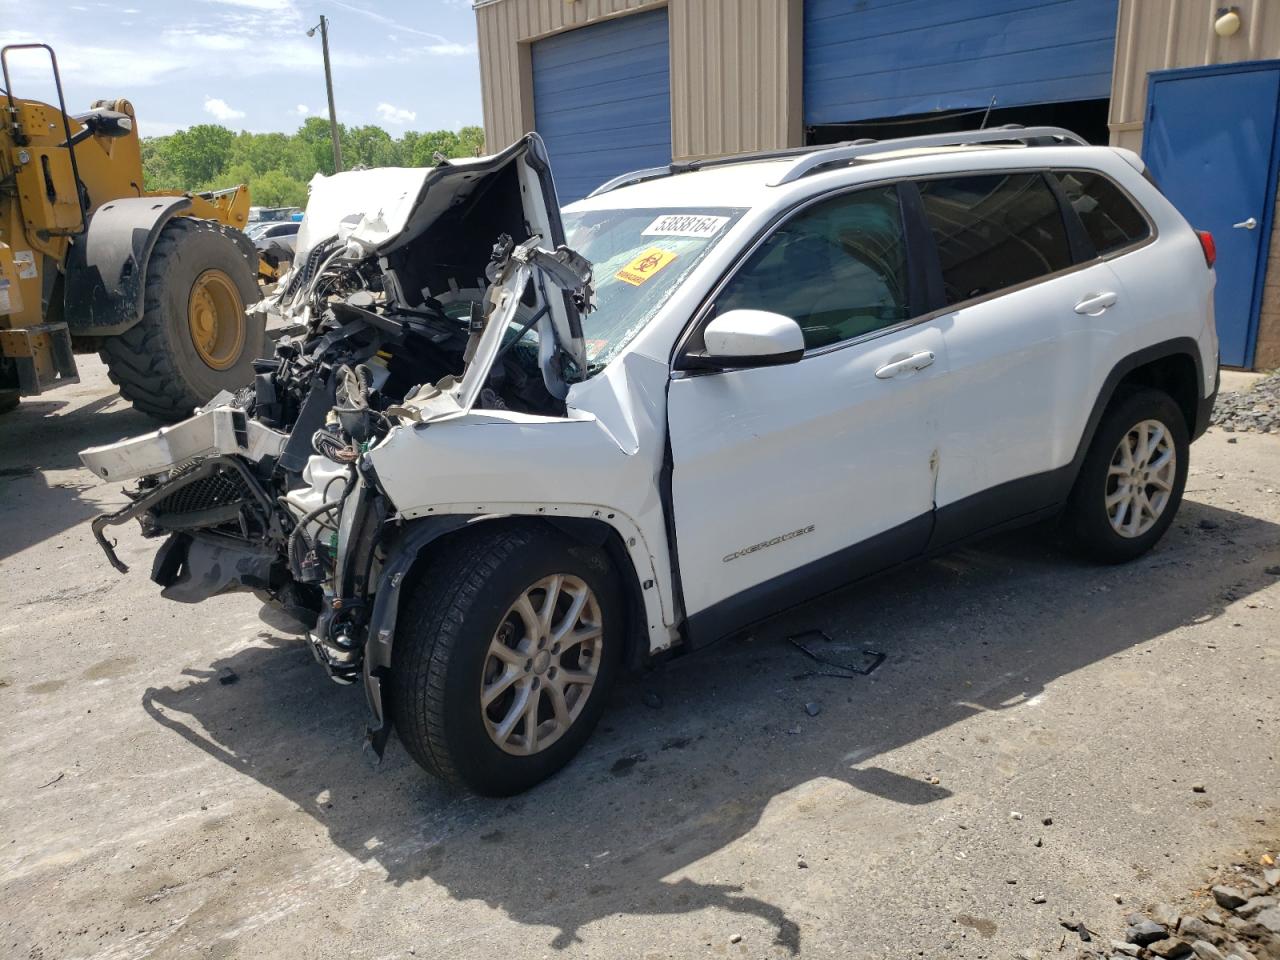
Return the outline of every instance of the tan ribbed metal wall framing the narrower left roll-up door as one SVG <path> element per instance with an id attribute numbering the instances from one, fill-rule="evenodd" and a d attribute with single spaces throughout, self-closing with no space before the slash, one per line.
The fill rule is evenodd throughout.
<path id="1" fill-rule="evenodd" d="M 801 142 L 801 0 L 488 0 L 475 13 L 489 150 L 534 128 L 535 40 L 658 6 L 671 19 L 676 159 Z"/>

